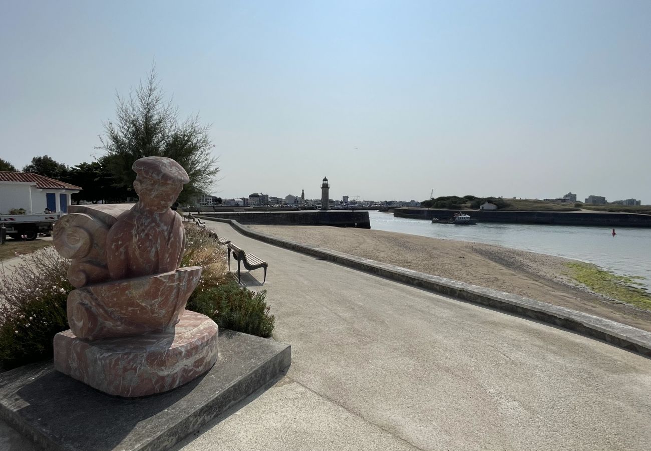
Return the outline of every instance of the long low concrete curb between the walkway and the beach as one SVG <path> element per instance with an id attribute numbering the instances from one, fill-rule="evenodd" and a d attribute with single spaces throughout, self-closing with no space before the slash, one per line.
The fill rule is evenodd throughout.
<path id="1" fill-rule="evenodd" d="M 377 276 L 396 280 L 404 284 L 436 291 L 443 295 L 467 300 L 474 304 L 489 306 L 498 310 L 504 310 L 505 312 L 514 313 L 521 317 L 532 318 L 557 327 L 573 330 L 651 358 L 651 332 L 646 332 L 646 330 L 587 313 L 577 312 L 570 308 L 547 304 L 547 302 L 540 302 L 539 300 L 504 293 L 503 291 L 465 284 L 464 282 L 457 282 L 456 280 L 439 276 L 432 276 L 424 272 L 380 263 L 326 248 L 313 248 L 296 242 L 277 239 L 270 235 L 252 231 L 235 220 L 210 218 L 208 216 L 202 216 L 202 219 L 225 222 L 242 233 L 242 235 L 268 244 L 339 263 L 346 267 L 376 274 Z"/>

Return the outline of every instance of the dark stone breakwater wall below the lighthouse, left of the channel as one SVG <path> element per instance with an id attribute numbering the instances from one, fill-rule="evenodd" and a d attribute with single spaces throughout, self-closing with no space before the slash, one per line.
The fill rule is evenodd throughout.
<path id="1" fill-rule="evenodd" d="M 201 213 L 201 218 L 236 220 L 240 224 L 258 225 L 334 225 L 370 229 L 368 211 L 266 211 Z"/>

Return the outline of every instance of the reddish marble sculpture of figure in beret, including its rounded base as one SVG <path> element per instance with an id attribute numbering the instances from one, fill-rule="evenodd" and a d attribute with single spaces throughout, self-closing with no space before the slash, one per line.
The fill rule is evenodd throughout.
<path id="1" fill-rule="evenodd" d="M 186 240 L 170 209 L 189 181 L 170 158 L 133 164 L 135 205 L 71 205 L 53 233 L 72 263 L 70 330 L 55 368 L 108 394 L 145 396 L 195 379 L 217 360 L 217 325 L 185 310 L 201 267 L 179 268 Z"/>

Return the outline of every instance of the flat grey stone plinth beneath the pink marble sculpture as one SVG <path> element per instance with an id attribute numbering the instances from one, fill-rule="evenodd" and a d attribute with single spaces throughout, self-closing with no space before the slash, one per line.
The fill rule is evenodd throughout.
<path id="1" fill-rule="evenodd" d="M 277 380 L 291 359 L 289 345 L 221 330 L 212 369 L 144 398 L 107 396 L 39 362 L 0 373 L 0 418 L 46 450 L 166 450 Z"/>

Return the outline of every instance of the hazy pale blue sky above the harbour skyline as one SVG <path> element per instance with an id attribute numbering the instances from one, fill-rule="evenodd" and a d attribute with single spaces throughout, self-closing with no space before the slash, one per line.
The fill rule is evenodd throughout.
<path id="1" fill-rule="evenodd" d="M 0 158 L 91 161 L 156 62 L 222 197 L 651 203 L 651 1 L 16 1 Z"/>

